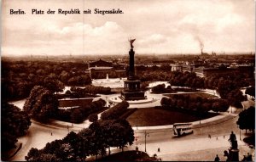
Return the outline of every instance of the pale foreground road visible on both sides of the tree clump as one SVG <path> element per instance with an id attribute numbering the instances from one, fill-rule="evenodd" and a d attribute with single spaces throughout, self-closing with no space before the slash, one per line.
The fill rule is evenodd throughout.
<path id="1" fill-rule="evenodd" d="M 157 154 L 162 160 L 212 160 L 215 154 L 219 154 L 220 158 L 225 160 L 223 151 L 230 147 L 228 138 L 230 131 L 234 131 L 239 147 L 244 152 L 243 154 L 246 154 L 247 147 L 244 142 L 239 140 L 240 131 L 236 127 L 237 118 L 237 116 L 229 115 L 221 120 L 202 124 L 201 127 L 195 126 L 193 134 L 183 137 L 174 137 L 171 129 L 148 130 L 146 131 L 149 135 L 146 144 L 147 153 L 151 156 Z M 79 129 L 74 126 L 67 130 L 65 126 L 45 126 L 33 121 L 27 136 L 19 138 L 23 143 L 22 148 L 10 160 L 25 160 L 25 156 L 31 148 L 44 148 L 47 142 L 63 138 L 71 130 L 78 132 Z M 211 138 L 208 137 L 208 134 L 211 134 Z M 245 137 L 243 131 L 241 136 Z M 139 150 L 145 151 L 144 131 L 135 130 L 135 137 L 137 137 L 137 142 L 125 149 L 135 150 L 137 146 Z M 158 148 L 160 148 L 160 152 L 157 151 Z M 112 148 L 113 153 L 118 151 L 120 149 Z M 184 154 L 186 154 L 185 159 Z"/>

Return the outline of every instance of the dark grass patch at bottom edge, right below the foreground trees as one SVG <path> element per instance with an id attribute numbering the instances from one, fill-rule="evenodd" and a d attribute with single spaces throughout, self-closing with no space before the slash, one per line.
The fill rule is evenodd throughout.
<path id="1" fill-rule="evenodd" d="M 135 161 L 136 159 L 148 158 L 148 154 L 139 151 L 125 151 L 116 154 L 110 154 L 109 156 L 98 159 L 98 161 Z"/>

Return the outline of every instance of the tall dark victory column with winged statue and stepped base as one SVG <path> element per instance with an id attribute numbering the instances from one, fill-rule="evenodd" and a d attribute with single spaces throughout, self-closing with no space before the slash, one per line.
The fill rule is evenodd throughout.
<path id="1" fill-rule="evenodd" d="M 134 54 L 132 43 L 135 39 L 129 40 L 131 44 L 131 50 L 129 51 L 129 70 L 128 77 L 125 82 L 124 91 L 121 92 L 121 98 L 124 100 L 139 100 L 145 99 L 145 95 L 143 91 L 140 90 L 141 81 L 135 78 L 135 70 L 134 70 Z"/>

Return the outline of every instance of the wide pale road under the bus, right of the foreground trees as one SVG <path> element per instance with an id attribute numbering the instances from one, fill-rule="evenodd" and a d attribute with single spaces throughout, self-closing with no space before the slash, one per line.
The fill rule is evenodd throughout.
<path id="1" fill-rule="evenodd" d="M 236 126 L 238 116 L 229 115 L 222 120 L 212 121 L 202 126 L 195 126 L 194 133 L 183 136 L 174 137 L 171 129 L 146 131 L 147 136 L 146 149 L 151 156 L 157 154 L 162 160 L 207 160 L 214 159 L 216 154 L 221 160 L 226 158 L 223 156 L 224 150 L 230 148 L 230 132 L 236 133 L 240 152 L 240 159 L 243 154 L 249 152 L 246 144 L 240 141 L 240 131 Z M 128 149 L 135 149 L 136 145 L 141 151 L 145 151 L 145 131 L 136 131 L 135 136 L 137 142 Z M 208 135 L 211 135 L 211 138 Z M 241 132 L 241 139 L 246 137 Z M 160 148 L 160 152 L 158 152 Z M 184 156 L 186 155 L 186 156 Z"/>

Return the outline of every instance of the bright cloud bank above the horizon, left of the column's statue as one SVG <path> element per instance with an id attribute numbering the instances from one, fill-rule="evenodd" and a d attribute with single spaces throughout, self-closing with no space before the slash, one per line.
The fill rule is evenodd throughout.
<path id="1" fill-rule="evenodd" d="M 41 29 L 38 30 L 38 28 Z M 38 31 L 41 31 L 40 36 L 37 36 Z M 13 36 L 10 34 L 9 38 Z M 122 28 L 113 21 L 107 21 L 104 25 L 96 27 L 81 22 L 64 27 L 46 23 L 30 31 L 29 34 L 26 30 L 20 31 L 15 41 L 5 39 L 4 42 L 12 42 L 12 47 L 8 45 L 3 47 L 3 53 L 17 53 L 18 51 L 24 53 L 27 52 L 26 47 L 29 47 L 34 53 L 53 55 L 60 54 L 63 49 L 66 54 L 99 53 L 101 50 L 102 53 L 113 53 L 119 51 L 119 42 L 120 40 L 124 42 L 124 37 L 126 36 Z M 23 39 L 23 43 L 20 43 L 21 39 Z M 19 47 L 22 50 L 18 50 Z"/>

